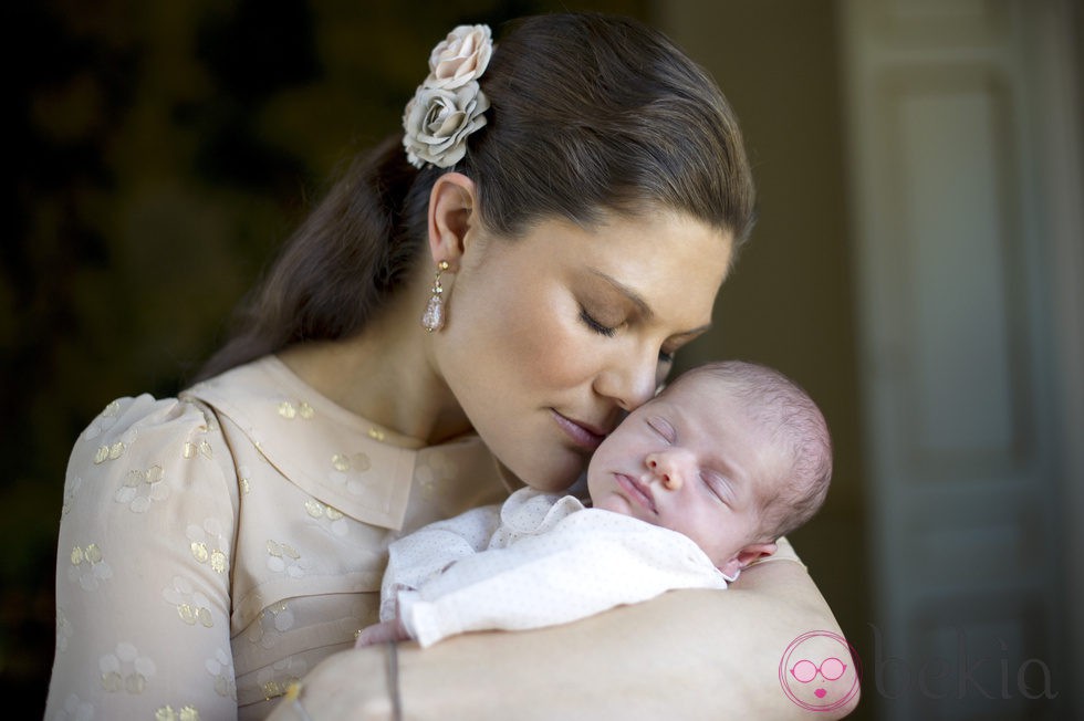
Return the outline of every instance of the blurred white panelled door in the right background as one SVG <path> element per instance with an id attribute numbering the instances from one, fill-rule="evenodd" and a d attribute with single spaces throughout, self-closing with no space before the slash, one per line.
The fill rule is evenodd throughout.
<path id="1" fill-rule="evenodd" d="M 1084 199 L 1063 23 L 1078 14 L 1062 0 L 840 11 L 876 609 L 863 704 L 1070 718 L 1084 712 L 1070 671 Z"/>

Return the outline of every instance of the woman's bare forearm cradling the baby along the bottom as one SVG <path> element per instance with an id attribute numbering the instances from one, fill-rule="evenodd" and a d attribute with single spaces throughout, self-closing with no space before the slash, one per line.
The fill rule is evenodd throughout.
<path id="1" fill-rule="evenodd" d="M 749 568 L 731 589 L 679 591 L 532 631 L 469 634 L 398 648 L 409 719 L 807 718 L 779 678 L 803 634 L 840 634 L 803 567 Z M 388 649 L 334 656 L 304 680 L 313 719 L 390 719 Z M 846 715 L 855 693 L 822 719 Z M 271 719 L 296 718 L 280 704 Z"/>

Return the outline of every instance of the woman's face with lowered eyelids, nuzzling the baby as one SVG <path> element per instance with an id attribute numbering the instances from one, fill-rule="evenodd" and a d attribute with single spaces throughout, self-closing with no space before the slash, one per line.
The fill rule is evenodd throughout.
<path id="1" fill-rule="evenodd" d="M 438 372 L 510 471 L 563 490 L 707 330 L 731 249 L 671 212 L 549 220 L 515 240 L 473 227 L 432 338 Z"/>

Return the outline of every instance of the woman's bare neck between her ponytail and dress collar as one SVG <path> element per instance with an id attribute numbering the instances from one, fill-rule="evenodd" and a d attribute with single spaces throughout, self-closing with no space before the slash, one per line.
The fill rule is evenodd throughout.
<path id="1" fill-rule="evenodd" d="M 302 380 L 346 410 L 427 445 L 470 430 L 470 422 L 431 360 L 420 312 L 402 299 L 359 335 L 303 343 L 279 353 Z"/>

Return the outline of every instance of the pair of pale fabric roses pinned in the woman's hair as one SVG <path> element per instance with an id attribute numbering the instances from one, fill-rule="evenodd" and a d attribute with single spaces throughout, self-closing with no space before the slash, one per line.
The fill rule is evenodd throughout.
<path id="1" fill-rule="evenodd" d="M 403 147 L 416 168 L 448 168 L 467 154 L 467 136 L 486 125 L 478 85 L 493 52 L 488 25 L 459 25 L 429 55 L 429 76 L 403 113 Z"/>

